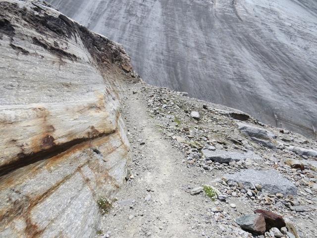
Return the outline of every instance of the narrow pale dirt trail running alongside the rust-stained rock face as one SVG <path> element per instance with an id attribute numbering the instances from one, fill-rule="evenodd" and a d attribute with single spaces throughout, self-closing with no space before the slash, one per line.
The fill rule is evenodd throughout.
<path id="1" fill-rule="evenodd" d="M 182 163 L 184 155 L 159 134 L 145 103 L 139 92 L 131 91 L 122 105 L 133 179 L 116 194 L 118 201 L 102 228 L 115 238 L 192 237 L 191 223 L 200 223 L 201 206 L 208 201 L 186 192 L 189 184 L 195 186 L 195 176 Z"/>

